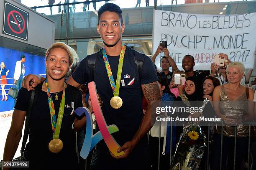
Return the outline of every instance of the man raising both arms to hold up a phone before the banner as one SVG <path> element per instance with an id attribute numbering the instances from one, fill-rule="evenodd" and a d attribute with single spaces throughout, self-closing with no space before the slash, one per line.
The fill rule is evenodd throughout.
<path id="1" fill-rule="evenodd" d="M 161 76 L 166 77 L 168 80 L 168 84 L 172 81 L 172 73 L 176 70 L 178 70 L 178 67 L 175 63 L 175 61 L 172 59 L 172 57 L 169 54 L 169 51 L 167 48 L 163 48 L 162 46 L 158 46 L 156 49 L 155 54 L 152 56 L 151 60 L 153 63 L 156 61 L 156 56 L 158 56 L 159 53 L 164 51 L 164 57 L 160 60 L 160 67 L 162 68 Z M 172 66 L 172 72 L 169 70 L 170 66 Z"/>

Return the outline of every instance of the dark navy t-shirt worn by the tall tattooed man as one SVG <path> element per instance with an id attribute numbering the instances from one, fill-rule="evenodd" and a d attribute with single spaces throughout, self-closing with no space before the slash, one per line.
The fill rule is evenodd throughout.
<path id="1" fill-rule="evenodd" d="M 102 49 L 92 54 L 96 59 L 94 81 L 97 87 L 97 93 L 100 94 L 103 101 L 102 112 L 107 125 L 115 124 L 119 131 L 113 134 L 119 145 L 130 141 L 141 123 L 143 117 L 141 84 L 149 84 L 157 81 L 154 64 L 148 56 L 144 57 L 143 67 L 141 69 L 141 80 L 139 78 L 137 65 L 134 61 L 134 53 L 127 46 L 123 60 L 123 70 L 121 74 L 119 96 L 123 100 L 120 109 L 113 109 L 110 106 L 110 99 L 113 97 L 113 91 L 108 79 L 105 63 L 102 57 Z M 110 68 L 116 82 L 119 56 L 108 56 Z M 77 70 L 72 74 L 73 79 L 79 84 L 85 84 L 87 77 L 87 58 L 84 58 Z M 134 82 L 133 82 L 134 81 Z M 97 129 L 98 130 L 98 129 Z"/>

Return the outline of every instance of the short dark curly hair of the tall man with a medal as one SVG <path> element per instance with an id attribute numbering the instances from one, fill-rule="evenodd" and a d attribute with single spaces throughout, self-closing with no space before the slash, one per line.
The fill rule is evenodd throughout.
<path id="1" fill-rule="evenodd" d="M 120 18 L 121 24 L 123 24 L 122 10 L 118 5 L 115 5 L 113 3 L 105 3 L 103 6 L 100 7 L 98 11 L 98 24 L 99 24 L 102 13 L 106 11 L 117 13 Z"/>

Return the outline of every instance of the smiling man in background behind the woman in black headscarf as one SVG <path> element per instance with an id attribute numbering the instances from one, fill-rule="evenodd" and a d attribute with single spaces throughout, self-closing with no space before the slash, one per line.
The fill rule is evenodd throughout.
<path id="1" fill-rule="evenodd" d="M 207 75 L 205 74 L 200 74 L 197 71 L 194 71 L 194 66 L 195 66 L 195 59 L 191 55 L 186 55 L 182 59 L 182 68 L 187 74 L 187 77 L 196 77 L 198 80 L 204 79 Z"/>

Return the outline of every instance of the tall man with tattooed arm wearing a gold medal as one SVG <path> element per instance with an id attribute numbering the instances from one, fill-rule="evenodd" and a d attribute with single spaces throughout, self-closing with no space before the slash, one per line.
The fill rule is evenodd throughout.
<path id="1" fill-rule="evenodd" d="M 117 152 L 124 151 L 125 154 L 115 157 L 109 152 L 105 142 L 100 141 L 94 148 L 91 169 L 92 170 L 116 170 L 116 169 L 149 169 L 148 161 L 148 141 L 145 134 L 151 128 L 150 109 L 153 107 L 153 101 L 160 100 L 160 91 L 157 85 L 157 75 L 154 64 L 144 55 L 143 66 L 141 68 L 141 76 L 139 76 L 137 66 L 134 61 L 134 55 L 138 52 L 125 46 L 125 53 L 122 64 L 119 59 L 122 58 L 122 33 L 125 25 L 123 24 L 122 11 L 120 7 L 112 3 L 104 4 L 98 11 L 97 32 L 100 34 L 104 43 L 104 48 L 99 52 L 90 55 L 96 57 L 94 81 L 97 92 L 103 101 L 102 113 L 108 125 L 115 124 L 119 128 L 113 137 L 121 146 Z M 105 51 L 104 53 L 102 53 Z M 104 56 L 104 58 L 103 58 Z M 89 56 L 84 58 L 77 70 L 67 80 L 68 84 L 79 87 L 86 83 L 90 77 L 87 75 L 87 60 Z M 108 62 L 106 61 L 108 60 Z M 109 66 L 109 67 L 108 67 Z M 106 69 L 110 68 L 110 69 Z M 122 71 L 117 73 L 118 68 Z M 112 72 L 113 80 L 121 74 L 120 91 L 118 96 L 123 100 L 123 105 L 119 109 L 110 106 L 110 99 L 113 97 L 113 90 L 108 77 L 108 71 Z M 90 74 L 89 74 L 90 75 Z M 41 78 L 42 79 L 42 78 Z M 32 87 L 29 82 L 33 81 Z M 40 83 L 37 76 L 29 75 L 24 80 L 27 89 Z M 114 88 L 115 89 L 115 88 Z M 116 92 L 116 91 L 115 91 Z M 143 115 L 142 97 L 148 102 L 148 109 Z M 96 127 L 97 131 L 99 130 Z"/>

